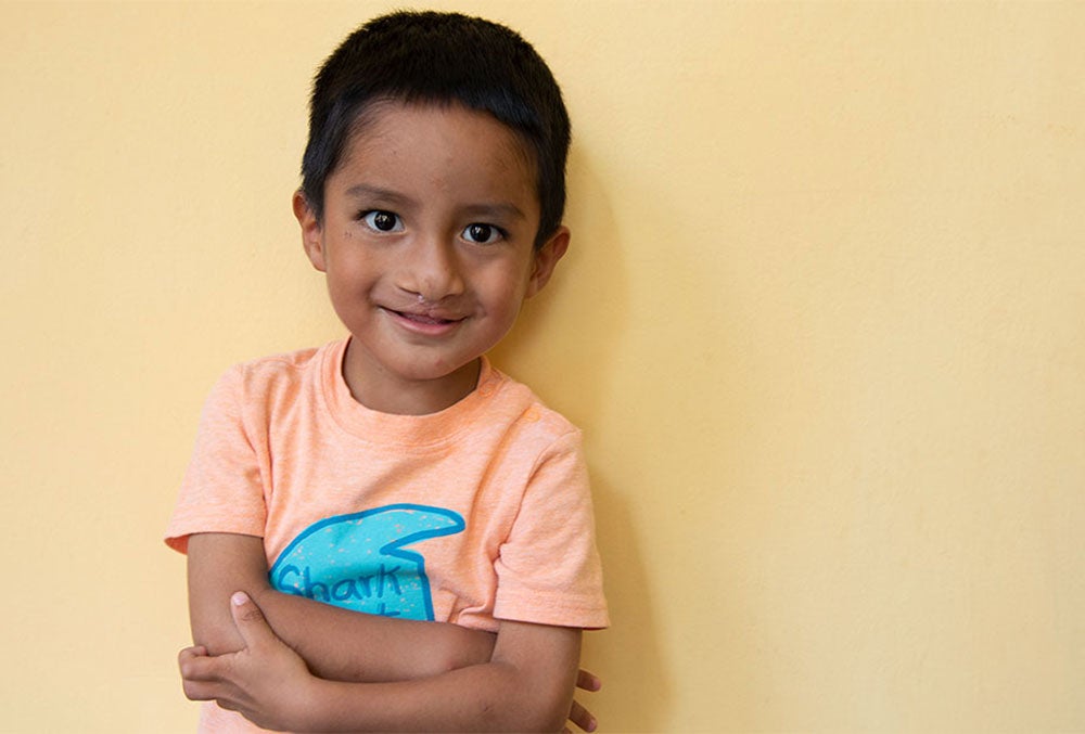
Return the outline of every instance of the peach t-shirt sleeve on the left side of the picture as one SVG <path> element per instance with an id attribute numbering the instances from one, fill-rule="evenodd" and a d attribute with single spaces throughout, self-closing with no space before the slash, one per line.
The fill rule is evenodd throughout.
<path id="1" fill-rule="evenodd" d="M 267 505 L 259 461 L 245 427 L 242 368 L 233 368 L 204 403 L 195 448 L 166 531 L 186 553 L 195 532 L 264 536 Z"/>

